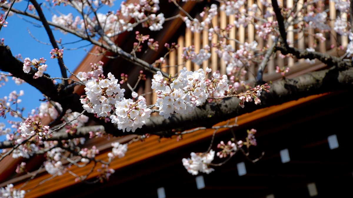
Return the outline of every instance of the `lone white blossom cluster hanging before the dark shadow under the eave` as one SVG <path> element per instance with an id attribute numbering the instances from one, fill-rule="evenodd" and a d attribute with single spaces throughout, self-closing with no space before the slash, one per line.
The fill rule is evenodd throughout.
<path id="1" fill-rule="evenodd" d="M 209 174 L 214 171 L 213 168 L 209 167 L 215 157 L 214 150 L 211 149 L 208 153 L 192 152 L 190 155 L 191 158 L 183 158 L 182 160 L 187 172 L 192 175 L 197 175 L 199 172 Z"/>

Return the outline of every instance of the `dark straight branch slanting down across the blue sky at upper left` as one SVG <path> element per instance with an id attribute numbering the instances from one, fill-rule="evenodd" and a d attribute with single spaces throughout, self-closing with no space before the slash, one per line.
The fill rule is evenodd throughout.
<path id="1" fill-rule="evenodd" d="M 55 41 L 53 32 L 52 32 L 52 30 L 49 27 L 48 21 L 45 18 L 43 12 L 42 12 L 41 6 L 38 4 L 38 2 L 36 0 L 30 0 L 30 1 L 33 4 L 33 6 L 36 8 L 37 12 L 38 12 L 38 16 L 39 16 L 40 20 L 43 23 L 44 29 L 47 31 L 47 35 L 49 36 L 49 40 L 50 40 L 50 43 L 52 43 L 53 48 L 54 49 L 55 48 L 59 49 L 59 46 L 58 46 L 58 44 Z M 60 72 L 61 72 L 62 78 L 67 78 L 67 73 L 66 73 L 66 68 L 65 68 L 65 65 L 64 65 L 64 60 L 62 60 L 62 58 L 58 58 L 58 63 L 59 63 L 59 67 L 60 67 Z M 67 82 L 67 81 L 65 81 L 65 82 Z"/>

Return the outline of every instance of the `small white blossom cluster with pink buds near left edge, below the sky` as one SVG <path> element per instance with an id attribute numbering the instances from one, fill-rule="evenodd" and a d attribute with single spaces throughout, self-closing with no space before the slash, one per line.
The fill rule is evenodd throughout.
<path id="1" fill-rule="evenodd" d="M 52 137 L 52 133 L 49 131 L 49 126 L 43 126 L 41 122 L 34 122 L 30 118 L 21 122 L 18 129 L 21 131 L 23 137 L 36 136 L 37 141 L 42 140 L 42 138 L 48 139 L 49 137 Z"/>

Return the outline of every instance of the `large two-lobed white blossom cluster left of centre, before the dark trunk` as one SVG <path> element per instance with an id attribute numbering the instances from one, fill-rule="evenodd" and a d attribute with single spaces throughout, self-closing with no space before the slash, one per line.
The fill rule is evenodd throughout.
<path id="1" fill-rule="evenodd" d="M 83 78 L 80 80 L 85 81 Z M 151 110 L 147 108 L 145 98 L 140 96 L 137 101 L 124 98 L 125 89 L 120 89 L 118 80 L 111 73 L 108 73 L 107 78 L 101 74 L 97 78 L 92 76 L 85 86 L 86 96 L 80 99 L 83 108 L 97 117 L 110 117 L 118 129 L 134 132 L 150 117 Z M 137 93 L 133 93 L 133 98 L 137 98 Z M 111 115 L 114 110 L 115 115 Z"/>

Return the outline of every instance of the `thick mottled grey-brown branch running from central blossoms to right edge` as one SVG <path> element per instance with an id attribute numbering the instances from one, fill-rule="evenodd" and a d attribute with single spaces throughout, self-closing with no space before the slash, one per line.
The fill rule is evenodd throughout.
<path id="1" fill-rule="evenodd" d="M 184 131 L 200 126 L 210 127 L 221 121 L 264 107 L 279 105 L 309 95 L 351 90 L 352 88 L 353 68 L 341 71 L 336 68 L 321 70 L 294 79 L 274 82 L 270 92 L 261 95 L 261 104 L 259 105 L 246 103 L 245 107 L 241 108 L 238 98 L 223 99 L 217 104 L 206 104 L 187 115 L 174 115 L 169 119 L 164 119 L 162 116 L 151 117 L 142 129 L 136 130 L 135 134 L 149 132 L 168 137 L 173 134 L 172 129 Z"/>

